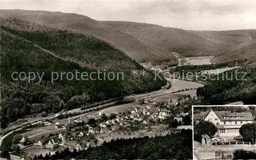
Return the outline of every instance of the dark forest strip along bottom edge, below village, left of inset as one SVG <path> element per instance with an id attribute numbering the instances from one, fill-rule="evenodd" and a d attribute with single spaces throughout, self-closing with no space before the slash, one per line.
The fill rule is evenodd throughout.
<path id="1" fill-rule="evenodd" d="M 193 159 L 192 130 L 155 138 L 117 139 L 87 150 L 65 149 L 34 159 Z"/>

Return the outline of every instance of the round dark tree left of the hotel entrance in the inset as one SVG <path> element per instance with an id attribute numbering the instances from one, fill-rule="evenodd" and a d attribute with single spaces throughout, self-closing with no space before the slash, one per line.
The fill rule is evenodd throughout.
<path id="1" fill-rule="evenodd" d="M 210 121 L 200 121 L 195 125 L 194 132 L 199 136 L 208 135 L 212 138 L 217 132 L 217 127 Z"/>

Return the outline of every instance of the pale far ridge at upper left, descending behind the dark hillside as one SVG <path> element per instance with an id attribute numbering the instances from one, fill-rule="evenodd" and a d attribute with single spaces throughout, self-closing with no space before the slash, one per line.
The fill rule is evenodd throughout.
<path id="1" fill-rule="evenodd" d="M 146 45 L 132 35 L 121 32 L 118 29 L 87 16 L 73 13 L 27 10 L 1 10 L 0 16 L 3 18 L 16 17 L 20 20 L 28 20 L 29 22 L 42 25 L 70 29 L 77 33 L 96 35 L 110 42 L 138 62 L 151 60 L 151 62 L 154 63 L 161 62 L 162 60 L 167 62 L 174 60 L 174 64 L 178 63 L 173 54 L 166 52 L 167 50 L 162 53 L 155 48 L 155 45 Z"/>

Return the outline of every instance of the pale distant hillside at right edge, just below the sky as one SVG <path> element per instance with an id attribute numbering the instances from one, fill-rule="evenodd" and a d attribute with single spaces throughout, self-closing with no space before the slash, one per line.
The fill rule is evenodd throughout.
<path id="1" fill-rule="evenodd" d="M 219 57 L 213 59 L 214 62 L 248 60 L 248 63 L 255 63 L 256 30 L 189 32 L 229 48 L 222 52 L 224 54 L 220 53 Z"/>

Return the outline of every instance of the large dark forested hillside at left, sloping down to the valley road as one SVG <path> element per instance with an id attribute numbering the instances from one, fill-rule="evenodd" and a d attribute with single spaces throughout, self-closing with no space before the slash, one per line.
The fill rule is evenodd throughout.
<path id="1" fill-rule="evenodd" d="M 2 19 L 1 23 L 1 127 L 6 127 L 26 115 L 41 112 L 57 113 L 62 109 L 72 109 L 83 104 L 122 97 L 132 93 L 158 90 L 166 84 L 154 74 L 131 74 L 132 69 L 143 69 L 122 51 L 91 35 L 83 35 L 67 30 L 48 28 L 16 18 Z M 52 72 L 120 72 L 113 80 L 98 77 L 62 79 L 52 83 Z M 28 82 L 23 74 L 17 77 L 13 72 L 38 72 L 38 76 Z M 112 75 L 112 74 L 111 74 Z M 112 76 L 111 76 L 112 77 Z M 23 79 L 24 80 L 20 80 Z M 79 80 L 80 79 L 80 80 Z M 103 80 L 102 80 L 103 79 Z"/>

